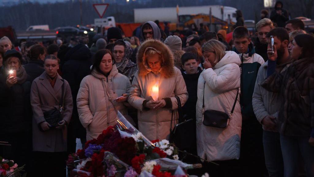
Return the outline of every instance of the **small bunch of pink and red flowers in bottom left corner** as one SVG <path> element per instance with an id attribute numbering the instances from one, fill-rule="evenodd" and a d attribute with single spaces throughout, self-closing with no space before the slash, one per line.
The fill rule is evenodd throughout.
<path id="1" fill-rule="evenodd" d="M 0 177 L 19 177 L 24 166 L 18 168 L 18 164 L 13 160 L 5 160 L 0 157 Z"/>

